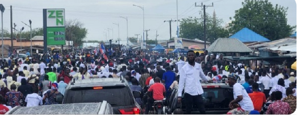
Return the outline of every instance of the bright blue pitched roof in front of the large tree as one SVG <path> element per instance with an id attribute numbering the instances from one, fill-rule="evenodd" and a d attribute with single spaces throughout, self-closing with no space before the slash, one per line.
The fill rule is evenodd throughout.
<path id="1" fill-rule="evenodd" d="M 229 38 L 237 38 L 241 42 L 257 42 L 257 41 L 270 41 L 268 38 L 265 38 L 248 28 L 243 28 Z"/>

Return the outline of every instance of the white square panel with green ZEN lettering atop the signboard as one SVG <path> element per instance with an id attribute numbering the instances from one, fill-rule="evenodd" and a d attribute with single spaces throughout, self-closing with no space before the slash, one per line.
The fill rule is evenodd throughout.
<path id="1" fill-rule="evenodd" d="M 65 27 L 65 9 L 47 9 L 47 27 Z"/>

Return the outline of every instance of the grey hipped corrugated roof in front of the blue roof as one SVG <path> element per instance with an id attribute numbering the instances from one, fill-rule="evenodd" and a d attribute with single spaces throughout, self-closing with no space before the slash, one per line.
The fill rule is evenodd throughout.
<path id="1" fill-rule="evenodd" d="M 252 52 L 251 49 L 236 38 L 218 38 L 207 50 L 208 52 Z"/>

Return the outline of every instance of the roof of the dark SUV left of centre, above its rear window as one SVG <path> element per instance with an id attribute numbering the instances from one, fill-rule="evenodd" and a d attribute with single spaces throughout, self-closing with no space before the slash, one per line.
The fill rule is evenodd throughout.
<path id="1" fill-rule="evenodd" d="M 120 78 L 88 78 L 80 80 L 72 80 L 69 87 L 95 87 L 95 86 L 129 86 L 126 80 Z"/>

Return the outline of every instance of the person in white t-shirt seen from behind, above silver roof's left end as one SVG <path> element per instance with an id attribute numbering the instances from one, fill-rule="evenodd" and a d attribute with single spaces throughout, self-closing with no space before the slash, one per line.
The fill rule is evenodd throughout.
<path id="1" fill-rule="evenodd" d="M 35 107 L 35 106 L 42 105 L 42 97 L 37 94 L 38 89 L 34 88 L 33 90 L 34 90 L 34 93 L 28 94 L 26 96 L 25 102 L 27 103 L 27 107 Z"/>

